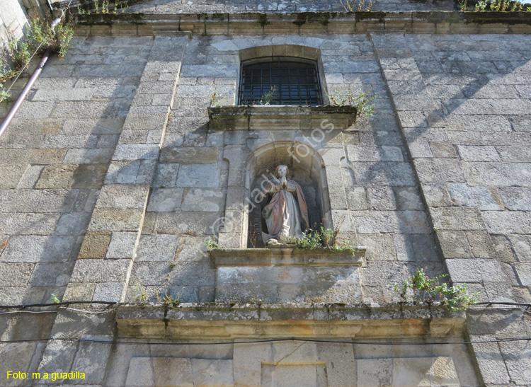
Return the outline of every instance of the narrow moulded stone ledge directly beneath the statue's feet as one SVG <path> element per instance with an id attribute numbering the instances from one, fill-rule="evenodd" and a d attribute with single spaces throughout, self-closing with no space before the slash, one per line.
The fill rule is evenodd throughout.
<path id="1" fill-rule="evenodd" d="M 216 267 L 222 266 L 361 266 L 365 246 L 354 250 L 309 250 L 285 246 L 271 248 L 215 248 L 210 250 Z"/>

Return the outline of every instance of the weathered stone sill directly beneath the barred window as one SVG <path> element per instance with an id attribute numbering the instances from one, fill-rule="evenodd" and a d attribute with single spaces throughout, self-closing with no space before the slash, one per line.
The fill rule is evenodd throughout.
<path id="1" fill-rule="evenodd" d="M 345 130 L 357 112 L 355 106 L 239 105 L 208 108 L 208 117 L 222 130 Z"/>

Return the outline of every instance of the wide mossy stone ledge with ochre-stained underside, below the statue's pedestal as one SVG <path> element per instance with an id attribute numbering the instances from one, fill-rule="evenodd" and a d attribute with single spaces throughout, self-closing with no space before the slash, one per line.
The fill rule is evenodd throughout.
<path id="1" fill-rule="evenodd" d="M 150 304 L 120 306 L 116 319 L 120 337 L 379 339 L 461 336 L 465 315 L 440 306 L 178 304 L 169 308 Z"/>

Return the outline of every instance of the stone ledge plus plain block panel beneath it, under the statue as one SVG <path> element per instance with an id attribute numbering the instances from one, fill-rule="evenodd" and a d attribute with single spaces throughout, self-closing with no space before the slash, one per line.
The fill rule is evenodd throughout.
<path id="1" fill-rule="evenodd" d="M 217 302 L 353 303 L 361 299 L 359 267 L 365 248 L 306 250 L 215 249 Z"/>

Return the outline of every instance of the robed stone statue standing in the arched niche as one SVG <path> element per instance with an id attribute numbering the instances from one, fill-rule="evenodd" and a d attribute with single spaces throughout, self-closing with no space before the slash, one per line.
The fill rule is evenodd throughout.
<path id="1" fill-rule="evenodd" d="M 268 181 L 262 197 L 273 195 L 262 210 L 268 233 L 262 233 L 266 244 L 278 243 L 290 236 L 302 237 L 303 230 L 309 228 L 308 207 L 300 185 L 286 178 L 287 166 L 278 166 L 278 178 Z"/>

